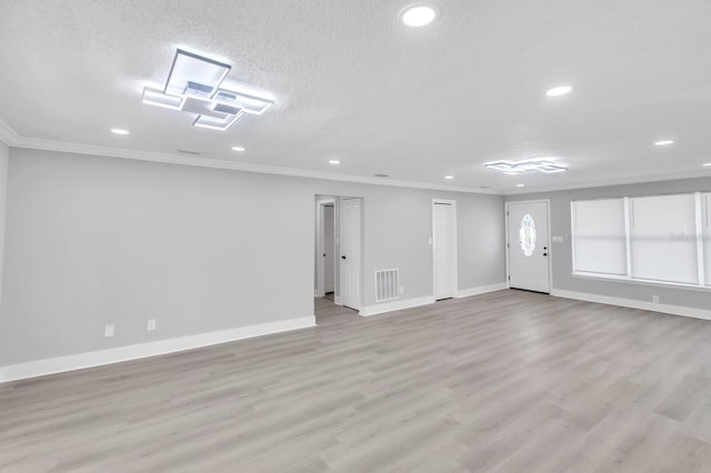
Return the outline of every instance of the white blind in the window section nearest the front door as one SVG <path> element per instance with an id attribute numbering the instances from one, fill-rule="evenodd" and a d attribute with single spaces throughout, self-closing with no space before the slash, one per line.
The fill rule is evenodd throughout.
<path id="1" fill-rule="evenodd" d="M 573 271 L 627 275 L 624 199 L 572 203 Z"/>

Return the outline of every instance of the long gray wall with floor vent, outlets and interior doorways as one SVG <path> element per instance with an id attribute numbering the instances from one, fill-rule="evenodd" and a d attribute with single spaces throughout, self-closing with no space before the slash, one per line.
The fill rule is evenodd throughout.
<path id="1" fill-rule="evenodd" d="M 312 315 L 316 194 L 364 199 L 364 305 L 383 268 L 432 294 L 432 198 L 458 202 L 460 289 L 504 280 L 499 195 L 11 149 L 2 364 Z"/>

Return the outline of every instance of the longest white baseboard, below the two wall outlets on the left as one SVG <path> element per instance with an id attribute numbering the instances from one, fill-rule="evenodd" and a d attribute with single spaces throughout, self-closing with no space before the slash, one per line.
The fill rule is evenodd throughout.
<path id="1" fill-rule="evenodd" d="M 156 342 L 119 346 L 116 349 L 99 350 L 69 356 L 11 364 L 0 368 L 0 383 L 23 380 L 27 378 L 43 376 L 46 374 L 63 373 L 66 371 L 81 370 L 84 368 L 101 366 L 104 364 L 156 356 L 183 350 L 198 349 L 201 346 L 217 345 L 219 343 L 287 332 L 290 330 L 306 329 L 309 326 L 316 326 L 314 316 L 288 319 L 278 322 L 181 336 L 178 339 L 159 340 Z"/>

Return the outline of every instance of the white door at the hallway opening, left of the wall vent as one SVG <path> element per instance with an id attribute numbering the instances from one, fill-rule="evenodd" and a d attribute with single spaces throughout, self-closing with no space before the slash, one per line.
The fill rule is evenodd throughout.
<path id="1" fill-rule="evenodd" d="M 341 199 L 341 303 L 360 310 L 360 199 Z"/>

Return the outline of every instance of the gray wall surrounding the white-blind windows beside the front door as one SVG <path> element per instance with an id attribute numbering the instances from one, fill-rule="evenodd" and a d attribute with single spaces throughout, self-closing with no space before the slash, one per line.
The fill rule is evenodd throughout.
<path id="1" fill-rule="evenodd" d="M 565 235 L 564 243 L 552 243 L 553 289 L 584 292 L 589 294 L 632 299 L 651 302 L 652 295 L 660 303 L 694 309 L 711 309 L 711 292 L 665 285 L 644 285 L 631 282 L 600 281 L 572 275 L 572 250 L 570 243 L 570 202 L 581 199 L 655 195 L 679 192 L 710 191 L 711 178 L 677 181 L 647 182 L 629 185 L 577 189 L 559 192 L 508 195 L 508 202 L 533 199 L 550 199 L 551 235 Z"/>

